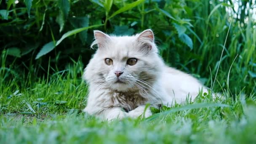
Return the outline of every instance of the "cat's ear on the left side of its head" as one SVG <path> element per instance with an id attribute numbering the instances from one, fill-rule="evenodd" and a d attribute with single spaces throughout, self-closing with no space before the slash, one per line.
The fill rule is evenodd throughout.
<path id="1" fill-rule="evenodd" d="M 99 30 L 94 30 L 93 33 L 94 33 L 94 38 L 95 38 L 94 44 L 97 44 L 98 48 L 101 50 L 102 48 L 104 48 L 104 45 L 106 45 L 106 43 L 108 43 L 110 41 L 110 37 L 109 37 L 109 35 L 105 34 L 104 32 L 101 32 Z"/>

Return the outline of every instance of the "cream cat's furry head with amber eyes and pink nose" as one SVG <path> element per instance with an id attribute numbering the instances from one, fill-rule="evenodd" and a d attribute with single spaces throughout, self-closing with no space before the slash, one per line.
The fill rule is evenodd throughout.
<path id="1" fill-rule="evenodd" d="M 83 75 L 89 84 L 116 91 L 148 89 L 161 75 L 163 61 L 150 29 L 120 37 L 94 31 L 94 37 L 91 47 L 98 50 Z"/>

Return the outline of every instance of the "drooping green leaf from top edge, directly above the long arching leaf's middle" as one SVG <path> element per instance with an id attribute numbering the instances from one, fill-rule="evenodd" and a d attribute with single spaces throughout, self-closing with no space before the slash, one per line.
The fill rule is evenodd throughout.
<path id="1" fill-rule="evenodd" d="M 59 0 L 58 5 L 60 11 L 56 21 L 60 26 L 59 32 L 61 32 L 64 28 L 65 21 L 67 20 L 67 17 L 69 15 L 70 3 L 69 0 Z"/>

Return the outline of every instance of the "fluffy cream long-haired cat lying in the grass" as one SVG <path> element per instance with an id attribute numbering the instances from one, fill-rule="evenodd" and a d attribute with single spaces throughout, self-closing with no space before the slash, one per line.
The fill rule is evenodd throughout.
<path id="1" fill-rule="evenodd" d="M 151 29 L 119 37 L 95 30 L 94 37 L 91 48 L 98 49 L 83 73 L 89 86 L 83 111 L 89 115 L 103 120 L 149 117 L 146 104 L 171 106 L 208 92 L 191 75 L 164 64 Z"/>

